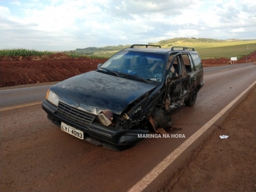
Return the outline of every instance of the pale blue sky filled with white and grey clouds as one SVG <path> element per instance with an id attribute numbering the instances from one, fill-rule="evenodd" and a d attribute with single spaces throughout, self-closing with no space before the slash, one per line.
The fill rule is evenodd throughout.
<path id="1" fill-rule="evenodd" d="M 70 51 L 175 37 L 256 39 L 252 0 L 0 0 L 0 49 Z"/>

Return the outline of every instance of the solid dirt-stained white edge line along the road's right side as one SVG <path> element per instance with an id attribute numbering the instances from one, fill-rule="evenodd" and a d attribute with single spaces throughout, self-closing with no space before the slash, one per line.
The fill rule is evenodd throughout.
<path id="1" fill-rule="evenodd" d="M 243 95 L 256 84 L 256 81 L 251 84 L 244 92 L 242 92 L 238 97 L 236 97 L 233 101 L 231 101 L 230 104 L 228 104 L 226 107 L 222 109 L 222 111 L 219 112 L 219 114 L 216 114 L 215 117 L 213 117 L 210 121 L 208 121 L 205 125 L 202 126 L 199 130 L 197 130 L 196 133 L 194 133 L 189 139 L 183 142 L 183 144 L 180 145 L 177 149 L 175 149 L 173 152 L 171 152 L 167 158 L 162 160 L 157 166 L 155 166 L 148 174 L 145 175 L 145 177 L 142 178 L 142 180 L 139 180 L 131 189 L 128 190 L 128 192 L 133 191 L 143 191 L 147 185 L 150 184 L 150 182 L 153 182 L 153 180 L 158 177 L 159 174 L 161 174 L 164 169 L 167 169 L 167 166 L 169 166 L 178 156 L 185 151 L 194 141 L 196 141 L 202 133 L 205 133 L 205 130 L 208 130 L 208 128 L 213 125 L 214 122 L 216 122 L 219 117 L 222 117 L 222 115 L 230 109 L 231 106 L 235 104 Z"/>

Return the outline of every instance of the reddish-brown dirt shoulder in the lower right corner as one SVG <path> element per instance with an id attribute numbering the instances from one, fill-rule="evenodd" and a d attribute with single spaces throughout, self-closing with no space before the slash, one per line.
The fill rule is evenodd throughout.
<path id="1" fill-rule="evenodd" d="M 177 182 L 167 183 L 161 191 L 255 191 L 255 114 L 254 86 L 179 178 L 173 178 Z M 220 139 L 222 135 L 228 138 Z"/>

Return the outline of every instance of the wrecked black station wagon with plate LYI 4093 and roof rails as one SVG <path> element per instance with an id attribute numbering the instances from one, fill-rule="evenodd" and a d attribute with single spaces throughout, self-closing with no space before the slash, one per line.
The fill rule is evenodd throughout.
<path id="1" fill-rule="evenodd" d="M 171 128 L 167 113 L 193 106 L 203 85 L 194 48 L 131 45 L 97 70 L 51 86 L 42 107 L 51 122 L 78 139 L 125 148 L 150 128 L 156 133 Z"/>

